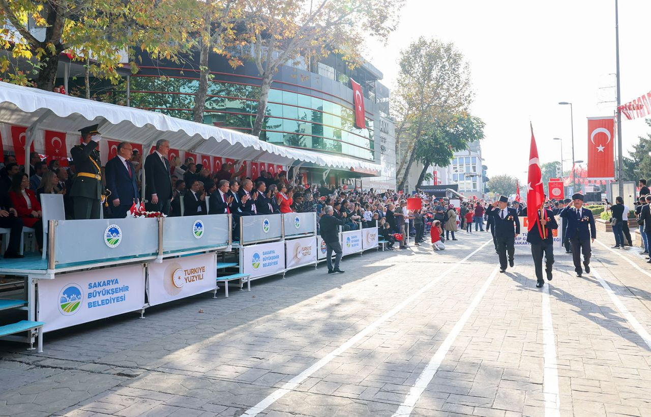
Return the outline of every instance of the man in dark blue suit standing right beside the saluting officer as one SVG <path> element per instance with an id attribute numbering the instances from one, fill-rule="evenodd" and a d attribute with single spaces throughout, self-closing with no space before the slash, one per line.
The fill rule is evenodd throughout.
<path id="1" fill-rule="evenodd" d="M 106 163 L 106 187 L 111 191 L 113 219 L 124 219 L 133 203 L 140 199 L 135 168 L 130 162 L 132 152 L 132 144 L 120 142 L 117 156 Z"/>

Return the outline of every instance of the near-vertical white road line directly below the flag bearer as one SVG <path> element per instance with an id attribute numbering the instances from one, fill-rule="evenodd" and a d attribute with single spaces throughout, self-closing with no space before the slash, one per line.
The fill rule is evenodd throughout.
<path id="1" fill-rule="evenodd" d="M 549 285 L 544 286 L 542 290 L 542 349 L 544 358 L 542 392 L 545 395 L 545 416 L 560 416 L 559 371 L 556 362 L 554 326 L 551 321 L 551 306 L 549 304 Z"/>

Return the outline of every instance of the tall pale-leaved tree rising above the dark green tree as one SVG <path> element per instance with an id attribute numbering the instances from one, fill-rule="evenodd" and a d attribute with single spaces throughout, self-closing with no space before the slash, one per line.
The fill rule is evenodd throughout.
<path id="1" fill-rule="evenodd" d="M 406 152 L 398 163 L 402 189 L 417 154 L 414 149 L 428 126 L 445 124 L 471 103 L 470 70 L 454 44 L 423 37 L 400 52 L 398 88 L 393 94 L 394 111 L 400 120 L 396 144 L 406 141 Z"/>

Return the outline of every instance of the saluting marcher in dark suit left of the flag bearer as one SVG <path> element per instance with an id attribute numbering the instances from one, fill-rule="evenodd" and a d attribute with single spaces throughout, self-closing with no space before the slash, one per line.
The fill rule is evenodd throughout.
<path id="1" fill-rule="evenodd" d="M 508 254 L 508 265 L 513 267 L 515 254 L 515 240 L 520 234 L 520 220 L 518 211 L 508 208 L 508 198 L 501 196 L 499 202 L 493 202 L 490 213 L 495 219 L 495 241 L 497 242 L 497 254 L 499 254 L 499 271 L 506 271 L 506 255 Z"/>

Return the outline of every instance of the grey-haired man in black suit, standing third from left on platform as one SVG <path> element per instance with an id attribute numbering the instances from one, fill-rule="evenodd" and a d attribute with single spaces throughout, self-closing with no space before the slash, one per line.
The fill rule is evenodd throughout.
<path id="1" fill-rule="evenodd" d="M 172 177 L 169 172 L 167 152 L 169 152 L 169 141 L 159 139 L 154 153 L 145 159 L 145 196 L 148 200 L 145 208 L 147 211 L 160 211 L 165 215 L 169 214 L 172 199 Z"/>

